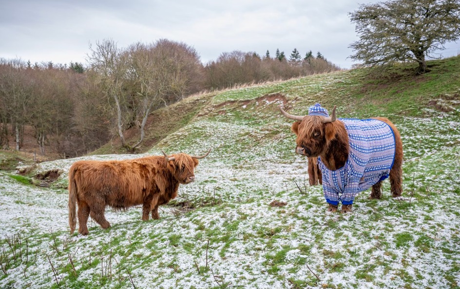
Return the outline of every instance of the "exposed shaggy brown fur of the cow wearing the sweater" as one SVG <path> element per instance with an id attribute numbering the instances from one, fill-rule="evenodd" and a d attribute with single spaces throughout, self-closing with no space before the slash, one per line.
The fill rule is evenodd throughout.
<path id="1" fill-rule="evenodd" d="M 373 117 L 387 123 L 395 135 L 396 149 L 395 160 L 393 167 L 390 170 L 390 185 L 391 195 L 393 197 L 401 196 L 402 176 L 403 176 L 403 142 L 401 135 L 396 126 L 385 117 Z M 296 152 L 304 154 L 308 157 L 308 164 L 314 162 L 314 159 L 321 156 L 322 162 L 329 170 L 337 170 L 345 165 L 348 159 L 349 144 L 348 135 L 345 130 L 345 125 L 340 120 L 334 122 L 323 123 L 323 116 L 304 116 L 302 121 L 296 121 L 292 124 L 291 130 L 297 135 Z M 315 175 L 316 167 L 308 168 L 308 173 L 313 181 L 310 184 L 321 182 L 318 180 L 318 174 Z M 382 196 L 381 182 L 372 186 L 370 198 L 380 199 Z M 328 208 L 331 211 L 331 208 Z M 343 208 L 341 212 L 351 212 L 351 205 Z"/>

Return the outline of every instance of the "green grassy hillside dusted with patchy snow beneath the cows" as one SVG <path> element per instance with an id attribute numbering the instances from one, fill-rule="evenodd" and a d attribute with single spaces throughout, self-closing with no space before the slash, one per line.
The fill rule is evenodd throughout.
<path id="1" fill-rule="evenodd" d="M 1 288 L 459 288 L 460 58 L 424 76 L 336 72 L 192 96 L 153 113 L 147 154 L 211 154 L 160 220 L 108 210 L 70 236 L 67 171 L 77 159 L 0 172 Z M 403 198 L 361 193 L 326 213 L 307 186 L 291 121 L 320 102 L 338 117 L 386 116 L 403 137 Z M 152 146 L 150 146 L 152 145 Z M 116 148 L 116 145 L 115 145 Z M 82 158 L 124 159 L 108 145 Z M 60 173 L 49 188 L 30 184 Z M 37 174 L 41 180 L 35 180 Z M 53 179 L 54 180 L 54 179 Z M 286 202 L 271 207 L 273 200 Z"/>

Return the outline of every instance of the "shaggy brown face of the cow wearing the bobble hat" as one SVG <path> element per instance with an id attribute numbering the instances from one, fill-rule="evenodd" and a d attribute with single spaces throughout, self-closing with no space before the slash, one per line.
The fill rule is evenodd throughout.
<path id="1" fill-rule="evenodd" d="M 295 152 L 308 157 L 319 156 L 334 137 L 331 123 L 324 123 L 323 116 L 305 116 L 302 121 L 292 124 L 291 130 L 297 135 Z"/>

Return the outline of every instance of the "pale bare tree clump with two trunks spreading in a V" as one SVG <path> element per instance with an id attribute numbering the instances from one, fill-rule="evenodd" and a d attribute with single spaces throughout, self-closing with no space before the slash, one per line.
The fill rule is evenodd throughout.
<path id="1" fill-rule="evenodd" d="M 97 84 L 115 105 L 122 146 L 134 152 L 145 137 L 153 108 L 168 105 L 201 89 L 202 65 L 196 51 L 181 42 L 160 39 L 118 49 L 113 40 L 96 43 L 89 57 Z M 137 127 L 140 137 L 129 144 L 123 135 Z"/>

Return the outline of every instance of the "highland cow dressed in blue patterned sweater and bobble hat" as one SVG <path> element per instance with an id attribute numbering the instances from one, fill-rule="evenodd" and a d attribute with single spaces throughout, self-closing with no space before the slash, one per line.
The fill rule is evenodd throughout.
<path id="1" fill-rule="evenodd" d="M 391 193 L 402 193 L 403 143 L 398 129 L 387 118 L 336 119 L 316 104 L 308 116 L 281 113 L 293 120 L 291 130 L 297 135 L 296 153 L 306 155 L 308 163 L 317 158 L 323 191 L 329 212 L 351 212 L 354 197 L 372 188 L 370 198 L 382 196 L 381 181 L 390 177 Z M 315 169 L 309 169 L 315 172 Z M 311 184 L 311 182 L 310 182 Z"/>

